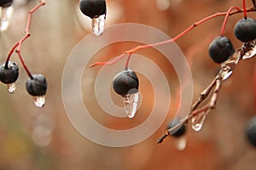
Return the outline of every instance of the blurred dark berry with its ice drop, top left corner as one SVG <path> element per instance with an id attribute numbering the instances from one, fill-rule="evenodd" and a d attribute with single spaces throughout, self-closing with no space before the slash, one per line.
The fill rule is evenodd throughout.
<path id="1" fill-rule="evenodd" d="M 6 31 L 9 27 L 9 20 L 11 18 L 11 15 L 13 14 L 14 8 L 11 7 L 11 4 L 13 3 L 13 0 L 1 0 L 0 1 L 0 7 L 1 8 L 1 23 L 0 23 L 0 30 Z"/>

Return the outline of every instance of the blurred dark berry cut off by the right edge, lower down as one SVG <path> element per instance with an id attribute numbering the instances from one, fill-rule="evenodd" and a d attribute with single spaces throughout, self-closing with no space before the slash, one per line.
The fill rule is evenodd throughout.
<path id="1" fill-rule="evenodd" d="M 256 147 L 256 116 L 247 123 L 246 134 L 250 144 Z"/>

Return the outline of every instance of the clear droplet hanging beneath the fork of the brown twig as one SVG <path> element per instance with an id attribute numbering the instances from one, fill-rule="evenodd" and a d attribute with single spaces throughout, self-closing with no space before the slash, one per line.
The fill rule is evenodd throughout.
<path id="1" fill-rule="evenodd" d="M 206 118 L 207 118 L 207 114 L 210 112 L 210 110 L 198 113 L 197 115 L 192 117 L 192 128 L 193 130 L 195 130 L 196 132 L 201 130 L 201 127 L 203 126 Z"/>

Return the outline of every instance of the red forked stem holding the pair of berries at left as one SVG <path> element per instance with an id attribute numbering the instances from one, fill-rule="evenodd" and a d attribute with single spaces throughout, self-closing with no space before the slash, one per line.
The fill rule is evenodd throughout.
<path id="1" fill-rule="evenodd" d="M 44 4 L 45 4 L 45 2 L 44 2 L 43 0 L 39 0 L 39 4 L 38 4 L 36 7 L 32 8 L 32 9 L 28 12 L 28 17 L 27 17 L 27 22 L 26 22 L 26 30 L 25 30 L 25 31 L 26 31 L 26 35 L 25 35 L 24 37 L 22 37 L 22 38 L 20 39 L 20 41 L 16 42 L 16 43 L 15 43 L 15 46 L 14 46 L 13 48 L 11 48 L 11 50 L 9 51 L 9 54 L 8 54 L 8 56 L 7 56 L 5 65 L 4 65 L 5 68 L 8 68 L 9 59 L 10 59 L 11 55 L 12 55 L 14 52 L 16 52 L 16 53 L 18 54 L 19 58 L 20 58 L 21 64 L 23 65 L 23 67 L 24 67 L 24 69 L 25 69 L 27 75 L 28 75 L 29 77 L 31 77 L 31 78 L 33 78 L 33 77 L 32 77 L 32 74 L 31 74 L 30 71 L 27 69 L 25 62 L 24 62 L 24 60 L 23 60 L 22 57 L 21 57 L 20 51 L 21 51 L 22 43 L 25 42 L 26 39 L 31 36 L 31 34 L 30 34 L 30 32 L 29 32 L 29 29 L 30 29 L 30 26 L 31 26 L 32 14 L 33 14 L 38 8 L 40 8 L 41 6 L 43 6 Z"/>

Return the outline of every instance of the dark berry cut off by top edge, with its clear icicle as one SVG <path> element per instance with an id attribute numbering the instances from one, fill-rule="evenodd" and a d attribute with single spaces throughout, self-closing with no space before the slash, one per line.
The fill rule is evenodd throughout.
<path id="1" fill-rule="evenodd" d="M 80 0 L 79 6 L 81 12 L 91 18 L 91 26 L 95 35 L 102 35 L 107 14 L 105 0 Z"/>

